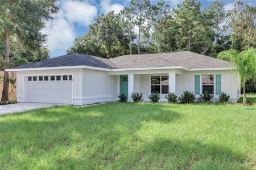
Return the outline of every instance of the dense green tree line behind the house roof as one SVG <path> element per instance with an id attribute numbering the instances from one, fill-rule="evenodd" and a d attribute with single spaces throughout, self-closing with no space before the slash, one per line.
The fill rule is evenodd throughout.
<path id="1" fill-rule="evenodd" d="M 195 0 L 173 9 L 165 1 L 132 0 L 119 14 L 98 16 L 67 52 L 113 58 L 189 50 L 216 57 L 230 48 L 241 52 L 256 46 L 255 17 L 256 7 L 241 1 L 227 11 L 220 1 L 202 10 Z"/>

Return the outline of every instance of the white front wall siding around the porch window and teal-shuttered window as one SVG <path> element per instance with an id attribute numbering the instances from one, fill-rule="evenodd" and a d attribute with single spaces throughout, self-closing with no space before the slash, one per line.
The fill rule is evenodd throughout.
<path id="1" fill-rule="evenodd" d="M 231 70 L 226 71 L 183 71 L 182 74 L 176 74 L 176 94 L 180 96 L 183 91 L 188 90 L 195 92 L 195 75 L 198 74 L 221 74 L 221 91 L 230 95 L 230 99 L 237 101 L 237 96 L 240 94 L 240 83 L 237 75 Z M 167 74 L 139 74 L 135 75 L 135 92 L 141 92 L 144 101 L 148 101 L 150 95 L 150 76 L 151 75 L 167 75 Z M 215 83 L 215 77 L 214 77 Z M 202 90 L 202 87 L 200 87 Z M 239 90 L 239 93 L 238 93 Z M 215 94 L 215 89 L 214 89 Z M 159 101 L 167 101 L 164 96 L 160 95 Z M 199 95 L 196 95 L 199 97 Z M 218 95 L 214 95 L 214 99 L 218 99 Z"/>

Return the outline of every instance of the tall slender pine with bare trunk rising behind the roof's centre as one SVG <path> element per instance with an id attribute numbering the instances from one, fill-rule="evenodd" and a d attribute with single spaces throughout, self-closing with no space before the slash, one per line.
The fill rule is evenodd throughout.
<path id="1" fill-rule="evenodd" d="M 141 53 L 140 42 L 141 33 L 149 29 L 148 20 L 150 20 L 150 1 L 149 0 L 131 0 L 131 15 L 135 25 L 138 26 L 138 54 Z"/>

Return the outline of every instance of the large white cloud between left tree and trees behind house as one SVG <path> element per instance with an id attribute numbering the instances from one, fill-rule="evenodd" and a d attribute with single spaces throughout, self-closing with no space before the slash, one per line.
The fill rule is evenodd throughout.
<path id="1" fill-rule="evenodd" d="M 88 2 L 61 1 L 59 8 L 60 10 L 53 16 L 53 20 L 50 20 L 42 29 L 43 33 L 48 34 L 46 45 L 50 53 L 55 50 L 65 52 L 76 37 L 74 24 L 86 27 L 97 15 L 97 8 Z"/>

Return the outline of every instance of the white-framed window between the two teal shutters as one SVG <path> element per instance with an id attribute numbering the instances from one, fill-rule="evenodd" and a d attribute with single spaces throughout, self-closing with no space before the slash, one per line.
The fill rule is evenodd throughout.
<path id="1" fill-rule="evenodd" d="M 202 94 L 208 91 L 210 94 L 214 94 L 214 74 L 202 75 Z"/>

